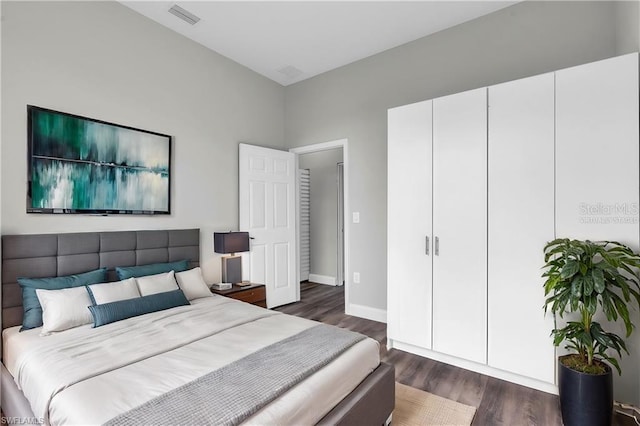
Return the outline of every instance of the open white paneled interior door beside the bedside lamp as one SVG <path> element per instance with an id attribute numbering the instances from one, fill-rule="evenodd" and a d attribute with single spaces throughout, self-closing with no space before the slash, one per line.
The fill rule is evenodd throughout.
<path id="1" fill-rule="evenodd" d="M 295 154 L 240 144 L 239 160 L 240 229 L 253 238 L 243 278 L 265 284 L 268 308 L 295 302 Z"/>

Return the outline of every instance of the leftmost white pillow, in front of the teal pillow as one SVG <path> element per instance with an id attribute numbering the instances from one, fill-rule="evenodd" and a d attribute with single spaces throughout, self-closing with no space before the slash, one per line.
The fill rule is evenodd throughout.
<path id="1" fill-rule="evenodd" d="M 42 305 L 41 336 L 93 322 L 89 311 L 91 298 L 84 286 L 61 290 L 37 289 L 36 295 Z"/>

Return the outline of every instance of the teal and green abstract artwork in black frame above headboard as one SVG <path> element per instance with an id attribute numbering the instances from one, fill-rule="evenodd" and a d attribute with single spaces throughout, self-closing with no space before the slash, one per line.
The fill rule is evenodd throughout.
<path id="1" fill-rule="evenodd" d="M 32 213 L 170 213 L 171 136 L 28 106 Z"/>

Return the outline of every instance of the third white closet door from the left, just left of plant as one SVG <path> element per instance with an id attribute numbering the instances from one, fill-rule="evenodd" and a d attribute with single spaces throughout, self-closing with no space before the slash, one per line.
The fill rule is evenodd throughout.
<path id="1" fill-rule="evenodd" d="M 488 364 L 547 383 L 540 267 L 554 238 L 554 119 L 553 73 L 489 87 Z"/>

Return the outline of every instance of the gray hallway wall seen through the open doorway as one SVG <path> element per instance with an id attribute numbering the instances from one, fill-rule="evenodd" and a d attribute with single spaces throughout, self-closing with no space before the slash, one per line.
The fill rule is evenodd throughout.
<path id="1" fill-rule="evenodd" d="M 338 259 L 338 167 L 342 149 L 302 154 L 299 167 L 311 176 L 310 273 L 336 278 Z"/>

